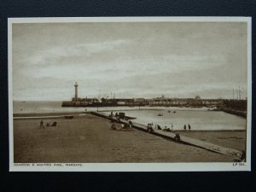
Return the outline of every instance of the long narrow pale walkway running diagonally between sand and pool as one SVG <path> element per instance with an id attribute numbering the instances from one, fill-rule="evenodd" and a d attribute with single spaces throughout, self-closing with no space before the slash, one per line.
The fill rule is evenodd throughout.
<path id="1" fill-rule="evenodd" d="M 109 119 L 109 120 L 112 120 L 112 121 L 116 121 L 116 122 L 119 122 L 119 123 L 123 123 L 123 124 L 126 124 L 126 125 L 128 125 L 129 121 L 131 121 L 131 120 L 125 120 L 125 119 L 118 119 L 115 116 L 109 116 L 108 114 L 101 113 L 101 112 L 90 112 L 90 113 L 94 114 L 96 116 L 99 116 L 99 117 L 102 117 L 102 118 L 105 118 L 105 119 Z M 138 123 L 135 123 L 135 122 L 131 121 L 131 126 L 135 129 L 137 129 L 137 130 L 148 132 L 147 125 L 142 125 L 142 124 L 138 124 Z M 170 139 L 172 141 L 176 141 L 176 139 L 175 139 L 176 133 L 175 132 L 167 132 L 167 131 L 154 129 L 154 131 L 150 131 L 148 133 L 159 136 L 159 137 L 165 137 L 165 138 Z M 194 138 L 190 138 L 190 137 L 184 137 L 182 135 L 180 135 L 180 140 L 177 141 L 177 142 L 193 145 L 193 146 L 198 147 L 198 148 L 205 148 L 207 150 L 216 152 L 218 154 L 224 154 L 224 155 L 231 156 L 234 159 L 240 159 L 240 157 L 241 157 L 241 151 L 239 151 L 239 150 L 236 150 L 236 149 L 233 149 L 233 148 L 225 148 L 225 147 L 213 144 L 213 143 L 207 143 L 207 142 L 204 142 L 204 141 L 201 141 L 201 140 L 198 140 L 198 139 L 194 139 Z"/>

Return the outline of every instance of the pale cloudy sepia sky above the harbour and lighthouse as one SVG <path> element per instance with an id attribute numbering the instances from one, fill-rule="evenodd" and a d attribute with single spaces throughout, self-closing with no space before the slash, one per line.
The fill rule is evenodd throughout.
<path id="1" fill-rule="evenodd" d="M 247 95 L 246 22 L 21 23 L 13 99 Z"/>

